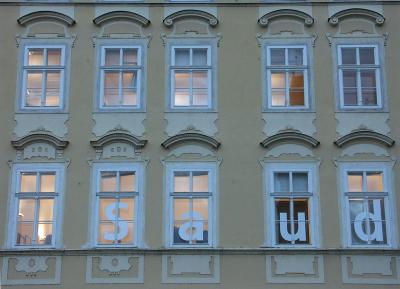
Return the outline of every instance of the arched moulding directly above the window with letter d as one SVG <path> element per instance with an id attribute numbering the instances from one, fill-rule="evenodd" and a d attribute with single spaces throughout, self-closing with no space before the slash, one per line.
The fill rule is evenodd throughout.
<path id="1" fill-rule="evenodd" d="M 365 142 L 372 141 L 378 144 L 382 144 L 388 147 L 394 145 L 394 140 L 384 134 L 377 133 L 373 130 L 369 129 L 358 129 L 354 130 L 345 136 L 337 139 L 334 144 L 338 147 L 343 147 L 344 145 L 355 143 L 355 142 Z"/>

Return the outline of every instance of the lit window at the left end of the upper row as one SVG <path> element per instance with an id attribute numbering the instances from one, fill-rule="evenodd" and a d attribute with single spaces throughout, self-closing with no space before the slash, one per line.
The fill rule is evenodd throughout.
<path id="1" fill-rule="evenodd" d="M 22 108 L 62 108 L 64 79 L 64 46 L 26 46 Z"/>

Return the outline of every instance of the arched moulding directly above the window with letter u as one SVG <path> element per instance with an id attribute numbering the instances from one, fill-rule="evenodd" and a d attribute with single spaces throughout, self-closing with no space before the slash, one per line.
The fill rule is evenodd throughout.
<path id="1" fill-rule="evenodd" d="M 300 142 L 304 145 L 308 145 L 311 147 L 317 147 L 319 145 L 319 141 L 312 136 L 300 133 L 295 130 L 285 130 L 270 137 L 267 137 L 260 143 L 260 145 L 264 148 L 268 148 L 274 144 L 284 144 L 288 142 Z"/>

